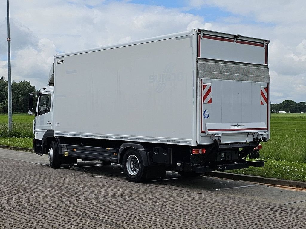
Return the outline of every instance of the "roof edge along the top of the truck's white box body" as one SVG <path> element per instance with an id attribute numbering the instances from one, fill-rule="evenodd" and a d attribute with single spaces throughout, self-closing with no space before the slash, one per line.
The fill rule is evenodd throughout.
<path id="1" fill-rule="evenodd" d="M 115 44 L 115 45 L 106 45 L 106 46 L 101 46 L 101 47 L 92 48 L 92 49 L 85 49 L 85 50 L 70 52 L 70 53 L 59 53 L 59 54 L 56 54 L 54 56 L 54 58 L 63 57 L 63 56 L 71 56 L 71 55 L 76 55 L 76 54 L 80 54 L 80 53 L 90 53 L 90 52 L 101 51 L 101 50 L 105 50 L 105 49 L 114 49 L 114 48 L 129 46 L 129 45 L 137 45 L 137 44 L 166 40 L 166 39 L 171 39 L 171 38 L 184 37 L 184 36 L 188 36 L 188 35 L 193 35 L 194 31 L 203 32 L 203 34 L 205 34 L 205 35 L 220 36 L 220 37 L 224 37 L 224 38 L 233 38 L 234 36 L 236 36 L 236 34 L 222 33 L 222 32 L 205 30 L 205 29 L 192 29 L 191 31 L 167 34 L 167 35 L 162 35 L 162 36 L 152 37 L 152 38 L 145 38 L 145 39 L 136 40 L 136 41 L 132 41 L 132 42 L 125 42 L 125 43 L 120 43 L 120 44 Z M 260 42 L 260 43 L 263 43 L 263 42 L 269 43 L 270 42 L 269 40 L 266 40 L 266 39 L 252 38 L 252 37 L 245 37 L 245 36 L 240 36 L 239 40 L 246 40 L 246 41 Z"/>

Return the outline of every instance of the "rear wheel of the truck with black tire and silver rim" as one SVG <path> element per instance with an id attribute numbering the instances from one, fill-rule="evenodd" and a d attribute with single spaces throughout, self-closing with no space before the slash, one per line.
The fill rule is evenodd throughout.
<path id="1" fill-rule="evenodd" d="M 141 183 L 146 180 L 146 167 L 144 167 L 142 157 L 138 151 L 128 150 L 125 152 L 122 168 L 126 179 L 129 181 Z"/>

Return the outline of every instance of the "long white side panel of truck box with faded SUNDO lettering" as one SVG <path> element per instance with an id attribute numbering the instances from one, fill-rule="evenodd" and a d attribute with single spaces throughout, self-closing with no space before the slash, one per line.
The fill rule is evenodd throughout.
<path id="1" fill-rule="evenodd" d="M 55 67 L 55 136 L 191 145 L 192 55 L 185 36 L 65 56 Z"/>

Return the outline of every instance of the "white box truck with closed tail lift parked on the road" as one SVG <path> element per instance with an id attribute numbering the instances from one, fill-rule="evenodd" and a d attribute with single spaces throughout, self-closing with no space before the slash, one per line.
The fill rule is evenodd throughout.
<path id="1" fill-rule="evenodd" d="M 122 164 L 129 181 L 263 166 L 270 137 L 268 44 L 203 29 L 54 56 L 34 151 L 51 168 Z M 34 101 L 35 103 L 35 101 Z"/>

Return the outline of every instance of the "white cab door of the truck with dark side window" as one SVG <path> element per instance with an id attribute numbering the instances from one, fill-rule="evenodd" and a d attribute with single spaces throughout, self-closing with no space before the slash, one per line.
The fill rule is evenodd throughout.
<path id="1" fill-rule="evenodd" d="M 52 101 L 53 91 L 39 95 L 35 115 L 35 139 L 42 140 L 44 133 L 52 127 Z"/>

